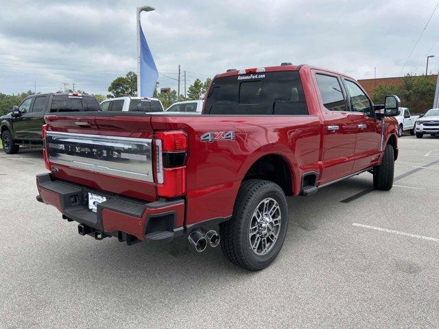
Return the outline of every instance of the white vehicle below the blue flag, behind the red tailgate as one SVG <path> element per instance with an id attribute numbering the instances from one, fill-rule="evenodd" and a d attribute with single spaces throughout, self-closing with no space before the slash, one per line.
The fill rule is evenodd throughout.
<path id="1" fill-rule="evenodd" d="M 161 101 L 150 97 L 116 97 L 106 99 L 100 104 L 104 112 L 137 111 L 163 112 Z"/>

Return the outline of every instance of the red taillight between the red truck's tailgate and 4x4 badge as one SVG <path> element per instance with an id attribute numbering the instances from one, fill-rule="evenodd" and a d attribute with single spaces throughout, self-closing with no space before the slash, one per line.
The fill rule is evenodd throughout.
<path id="1" fill-rule="evenodd" d="M 154 139 L 154 175 L 157 195 L 186 193 L 187 135 L 182 131 L 157 132 Z"/>

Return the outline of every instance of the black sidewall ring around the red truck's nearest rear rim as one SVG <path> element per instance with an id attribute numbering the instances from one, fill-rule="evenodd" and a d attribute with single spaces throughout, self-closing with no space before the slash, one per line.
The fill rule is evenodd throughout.
<path id="1" fill-rule="evenodd" d="M 247 262 L 254 267 L 255 269 L 263 269 L 267 267 L 272 261 L 276 258 L 278 253 L 282 249 L 283 242 L 285 241 L 285 236 L 287 234 L 288 229 L 288 206 L 286 202 L 285 195 L 283 194 L 280 187 L 278 188 L 272 188 L 273 186 L 276 186 L 274 184 L 269 184 L 266 186 L 263 186 L 261 188 L 261 193 L 257 195 L 257 197 L 254 197 L 252 201 L 248 204 L 248 206 L 245 208 L 243 215 L 243 221 L 241 221 L 241 239 L 242 241 L 242 247 L 243 247 L 243 253 L 244 257 L 246 258 Z M 250 245 L 250 239 L 248 239 L 248 232 L 250 230 L 250 223 L 252 220 L 252 215 L 256 207 L 259 205 L 259 203 L 268 197 L 271 197 L 272 199 L 276 200 L 276 202 L 279 205 L 279 208 L 281 210 L 281 229 L 278 235 L 278 239 L 276 240 L 276 243 L 274 244 L 274 247 L 265 255 L 257 255 L 253 252 L 252 247 Z"/>

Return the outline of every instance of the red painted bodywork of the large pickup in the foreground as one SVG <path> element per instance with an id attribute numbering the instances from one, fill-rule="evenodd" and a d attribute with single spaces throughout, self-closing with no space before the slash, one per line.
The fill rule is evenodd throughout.
<path id="1" fill-rule="evenodd" d="M 265 71 L 292 71 L 296 66 L 274 66 Z M 294 194 L 300 193 L 302 173 L 316 171 L 319 184 L 372 167 L 381 161 L 379 134 L 381 121 L 362 114 L 330 112 L 322 105 L 316 72 L 340 75 L 332 71 L 302 66 L 300 77 L 307 99 L 306 116 L 158 116 L 150 117 L 56 117 L 46 118 L 48 129 L 59 132 L 102 134 L 151 138 L 152 133 L 182 130 L 188 136 L 185 173 L 186 215 L 189 225 L 228 217 L 233 212 L 235 198 L 248 169 L 259 158 L 281 156 L 290 169 Z M 217 77 L 237 75 L 222 73 Z M 344 75 L 340 75 L 346 77 Z M 351 79 L 350 77 L 346 77 Z M 90 128 L 78 128 L 75 121 L 87 121 Z M 358 123 L 367 129 L 360 132 Z M 385 119 L 385 141 L 395 134 L 394 120 Z M 327 125 L 340 125 L 329 132 Z M 235 132 L 235 141 L 200 141 L 206 132 Z M 84 184 L 102 191 L 153 201 L 155 184 L 113 178 L 62 166 L 54 177 Z M 165 182 L 166 184 L 166 182 Z M 123 219 L 120 219 L 122 221 Z"/>

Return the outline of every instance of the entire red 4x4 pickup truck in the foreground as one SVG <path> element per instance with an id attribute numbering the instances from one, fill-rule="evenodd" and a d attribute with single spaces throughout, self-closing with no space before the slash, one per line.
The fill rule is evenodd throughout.
<path id="1" fill-rule="evenodd" d="M 346 75 L 283 63 L 216 75 L 202 115 L 50 114 L 37 199 L 98 240 L 185 234 L 198 251 L 220 243 L 233 263 L 263 269 L 285 240 L 286 196 L 364 171 L 392 188 L 399 105 L 390 95 L 374 106 Z"/>

